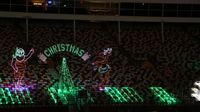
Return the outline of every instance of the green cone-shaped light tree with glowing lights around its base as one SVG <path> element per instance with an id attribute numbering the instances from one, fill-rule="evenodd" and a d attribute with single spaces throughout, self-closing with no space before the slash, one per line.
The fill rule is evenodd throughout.
<path id="1" fill-rule="evenodd" d="M 63 58 L 59 82 L 48 88 L 48 92 L 54 103 L 58 103 L 56 98 L 58 96 L 63 104 L 69 104 L 70 102 L 73 103 L 76 100 L 78 90 L 79 88 L 74 86 L 71 73 L 67 66 L 66 58 Z"/>

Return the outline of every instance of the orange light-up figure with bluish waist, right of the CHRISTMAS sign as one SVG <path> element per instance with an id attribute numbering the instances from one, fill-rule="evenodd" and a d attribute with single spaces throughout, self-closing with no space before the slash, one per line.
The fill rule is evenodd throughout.
<path id="1" fill-rule="evenodd" d="M 99 89 L 103 90 L 104 85 L 109 83 L 109 78 L 111 76 L 111 67 L 108 65 L 108 59 L 111 56 L 112 48 L 106 48 L 103 52 L 100 52 L 97 56 L 97 60 L 92 63 L 94 65 L 94 70 L 98 70 L 100 74 L 103 75 L 103 80 L 99 85 Z"/>

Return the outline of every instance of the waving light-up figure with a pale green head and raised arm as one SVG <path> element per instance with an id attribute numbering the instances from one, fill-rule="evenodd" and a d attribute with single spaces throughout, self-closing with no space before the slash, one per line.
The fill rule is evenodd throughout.
<path id="1" fill-rule="evenodd" d="M 27 55 L 22 48 L 16 48 L 15 54 L 12 57 L 11 66 L 14 70 L 14 79 L 17 81 L 16 85 L 22 85 L 24 78 L 27 60 L 33 55 L 34 49 L 32 48 Z"/>

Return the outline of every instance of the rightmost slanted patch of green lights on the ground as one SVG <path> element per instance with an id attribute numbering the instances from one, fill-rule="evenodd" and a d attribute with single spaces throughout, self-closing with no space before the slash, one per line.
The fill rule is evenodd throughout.
<path id="1" fill-rule="evenodd" d="M 162 87 L 150 87 L 149 89 L 153 92 L 155 98 L 158 98 L 157 102 L 160 104 L 175 105 L 180 103 L 179 99 L 175 98 L 174 95 L 167 93 Z"/>

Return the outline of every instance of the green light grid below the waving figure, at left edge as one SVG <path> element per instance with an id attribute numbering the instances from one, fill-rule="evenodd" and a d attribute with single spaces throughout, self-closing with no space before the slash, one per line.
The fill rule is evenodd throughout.
<path id="1" fill-rule="evenodd" d="M 33 103 L 28 89 L 25 91 L 10 91 L 9 88 L 0 88 L 0 104 L 27 104 Z"/>

